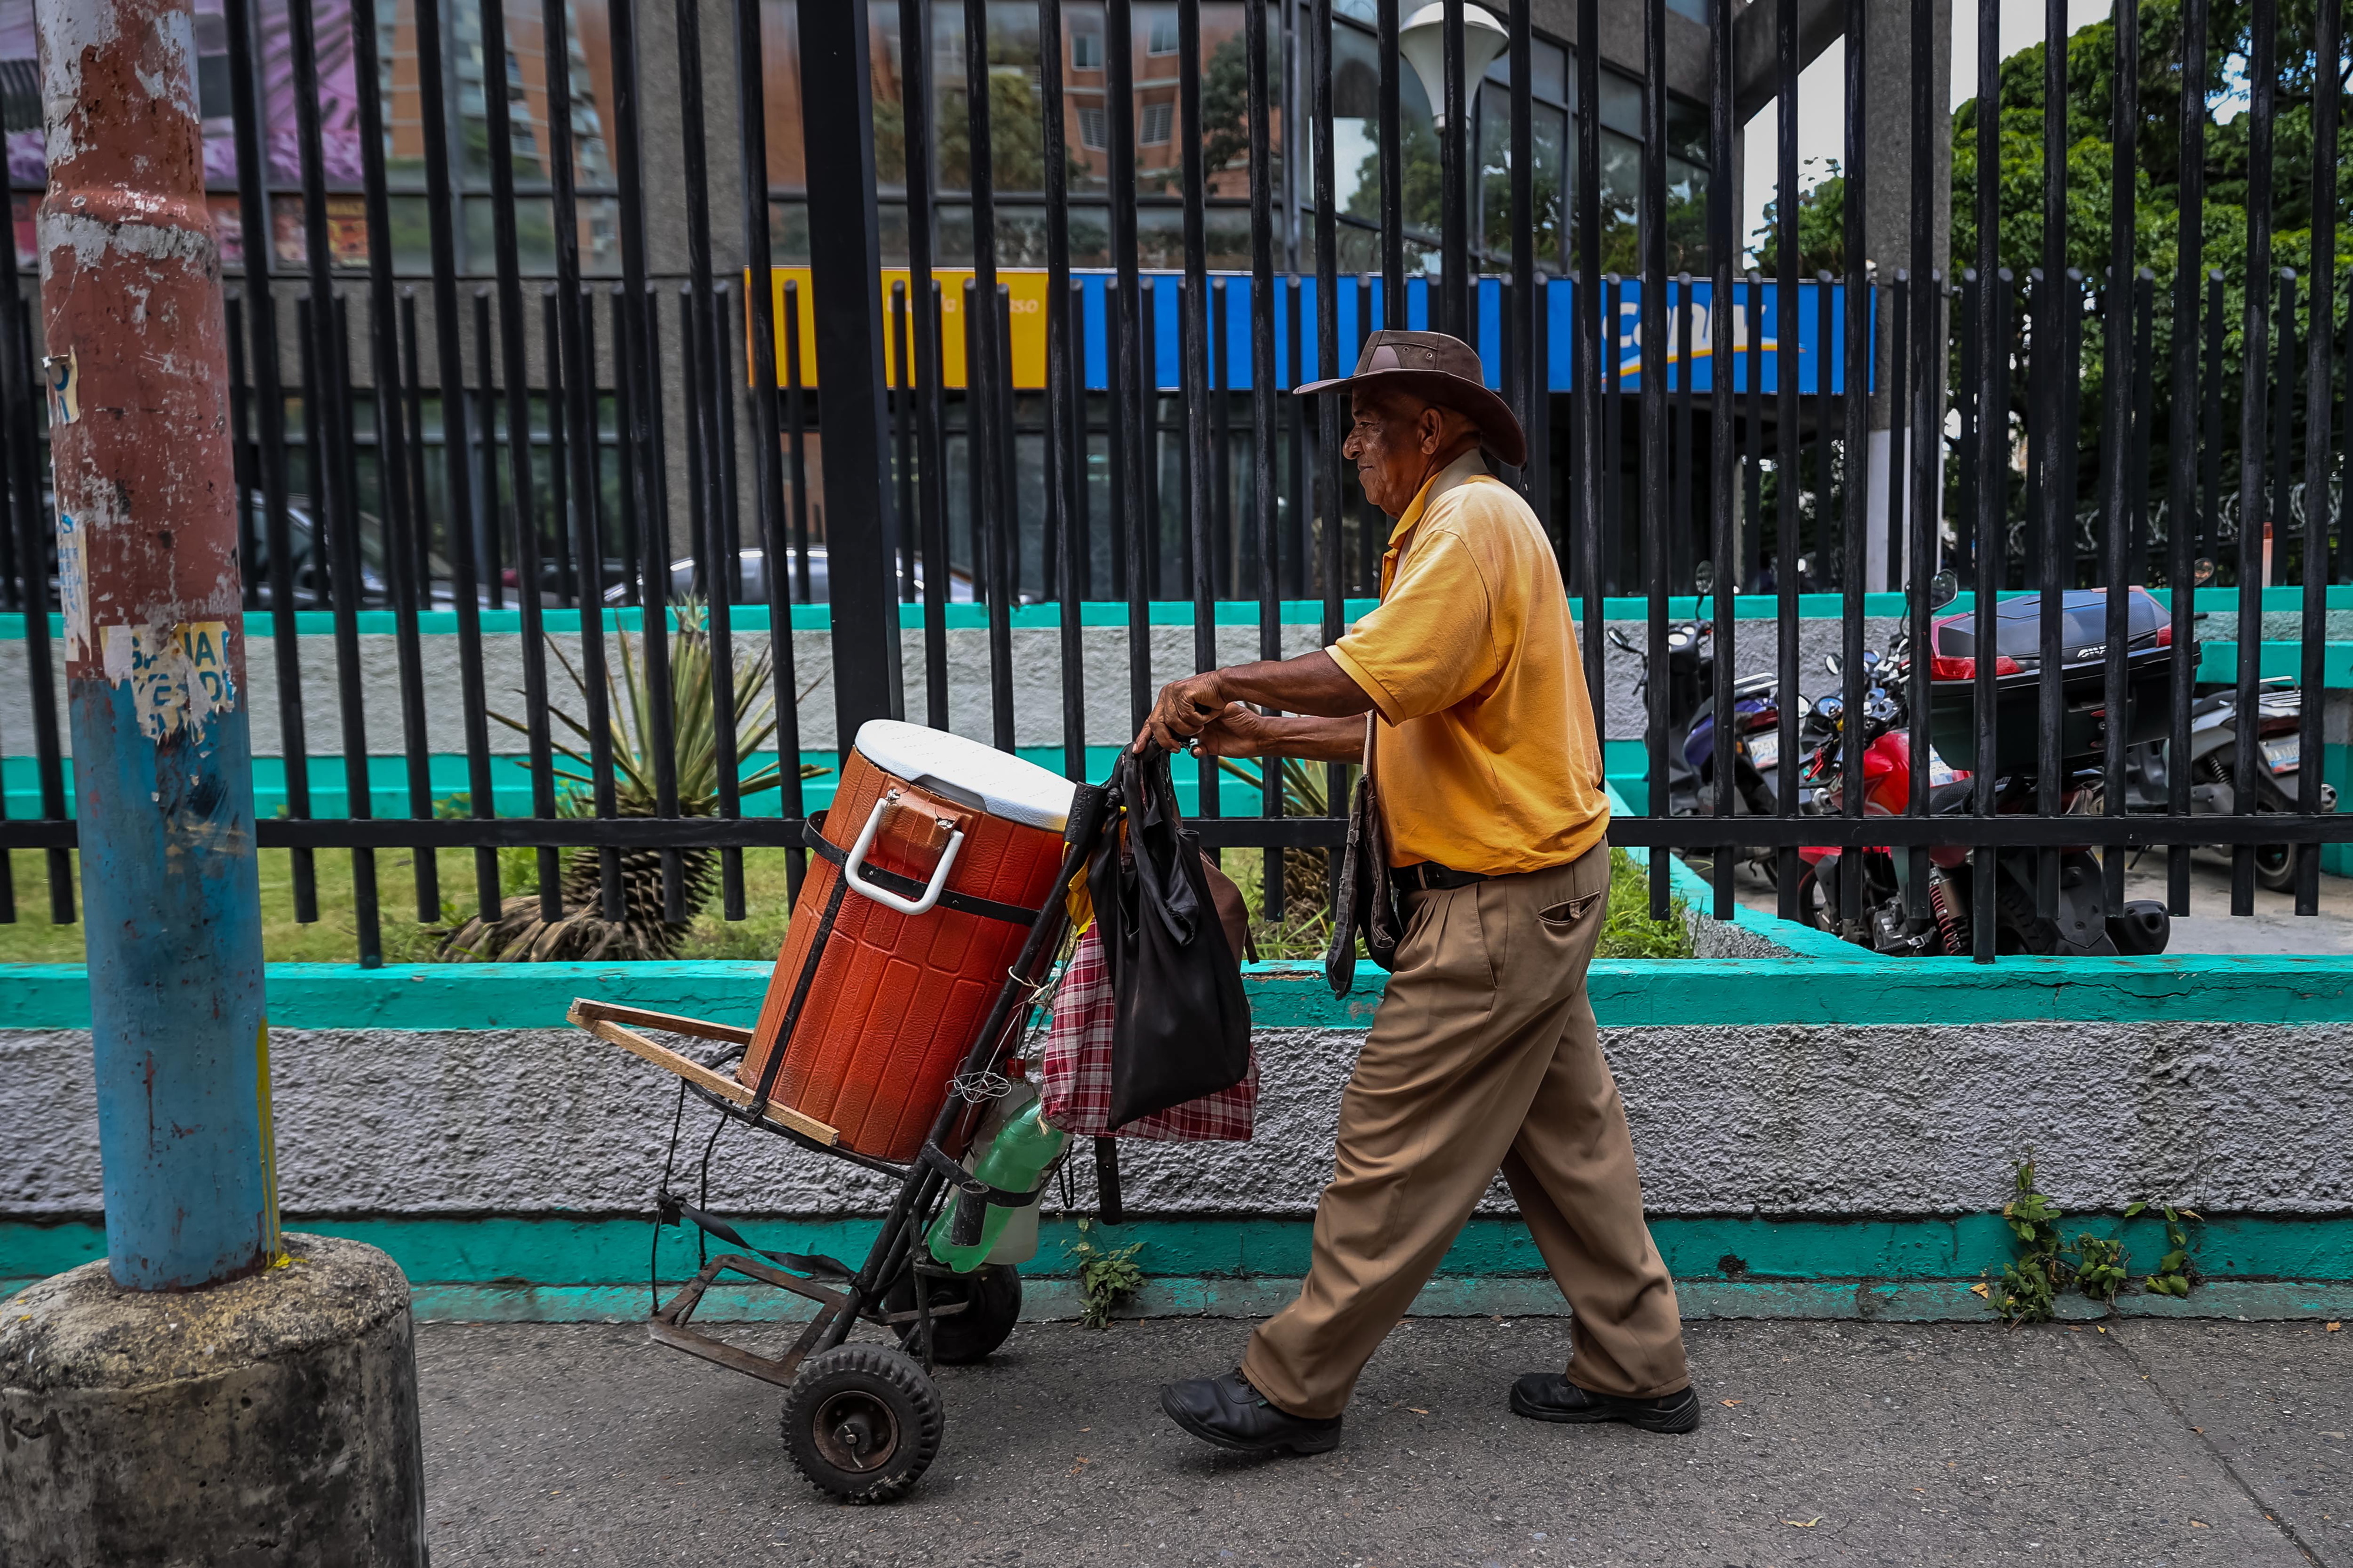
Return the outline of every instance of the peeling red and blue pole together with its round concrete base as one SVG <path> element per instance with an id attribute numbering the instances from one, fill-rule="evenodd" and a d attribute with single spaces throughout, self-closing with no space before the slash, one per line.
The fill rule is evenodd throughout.
<path id="1" fill-rule="evenodd" d="M 424 1563 L 407 1281 L 374 1248 L 278 1234 L 195 12 L 38 0 L 35 21 L 106 1262 L 0 1314 L 0 1561 L 228 1561 L 268 1542 L 285 1561 Z"/>

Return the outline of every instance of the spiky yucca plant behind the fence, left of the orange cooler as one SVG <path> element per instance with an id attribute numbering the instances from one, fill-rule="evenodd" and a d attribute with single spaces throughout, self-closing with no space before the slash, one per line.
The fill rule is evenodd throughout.
<path id="1" fill-rule="evenodd" d="M 711 680 L 711 631 L 704 624 L 699 600 L 678 607 L 678 631 L 671 638 L 671 758 L 678 777 L 678 812 L 682 817 L 708 817 L 718 810 L 720 756 L 718 756 L 718 706 Z M 645 647 L 626 631 L 616 633 L 619 657 L 605 671 L 607 725 L 612 739 L 614 810 L 621 817 L 654 815 L 654 687 L 645 676 Z M 553 645 L 551 645 L 553 647 Z M 588 695 L 588 683 L 555 650 L 558 664 L 572 676 L 572 685 Z M 619 680 L 616 680 L 619 676 Z M 769 652 L 746 659 L 734 671 L 734 732 L 736 756 L 751 756 L 776 735 L 776 704 L 767 697 Z M 812 690 L 814 690 L 812 680 Z M 798 692 L 807 697 L 807 690 Z M 555 742 L 555 749 L 579 768 L 591 763 L 591 730 L 584 720 L 551 706 L 551 718 L 572 732 L 572 742 Z M 511 730 L 527 725 L 506 713 L 492 713 Z M 802 763 L 800 777 L 826 772 L 814 763 Z M 562 815 L 591 815 L 595 786 L 593 772 L 558 768 L 555 777 L 569 789 L 562 796 Z M 753 796 L 784 784 L 784 770 L 767 765 L 736 784 L 739 796 Z M 671 958 L 685 942 L 694 916 L 711 904 L 718 890 L 718 850 L 678 850 L 680 895 L 687 918 L 666 921 L 661 899 L 661 850 L 621 850 L 621 918 L 605 916 L 605 883 L 598 850 L 569 848 L 562 857 L 560 921 L 544 918 L 539 892 L 522 892 L 504 902 L 496 921 L 480 916 L 456 925 L 442 937 L 440 956 L 447 961 L 492 963 L 598 963 L 631 958 Z"/>

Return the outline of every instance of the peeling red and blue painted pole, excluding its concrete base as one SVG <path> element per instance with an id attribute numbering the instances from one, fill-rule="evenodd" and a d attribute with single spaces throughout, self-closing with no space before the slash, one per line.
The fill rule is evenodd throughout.
<path id="1" fill-rule="evenodd" d="M 38 0 L 59 598 L 106 1257 L 278 1255 L 221 257 L 191 0 Z"/>

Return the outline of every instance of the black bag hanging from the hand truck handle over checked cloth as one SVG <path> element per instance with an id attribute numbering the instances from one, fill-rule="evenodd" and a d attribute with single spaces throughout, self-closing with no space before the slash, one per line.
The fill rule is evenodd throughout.
<path id="1" fill-rule="evenodd" d="M 1233 1088 L 1249 1074 L 1249 1001 L 1202 873 L 1200 838 L 1176 815 L 1167 753 L 1120 753 L 1111 789 L 1127 808 L 1087 866 L 1118 998 L 1111 1125 Z"/>

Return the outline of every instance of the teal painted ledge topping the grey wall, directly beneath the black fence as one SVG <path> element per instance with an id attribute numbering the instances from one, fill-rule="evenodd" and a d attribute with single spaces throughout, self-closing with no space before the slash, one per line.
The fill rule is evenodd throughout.
<path id="1" fill-rule="evenodd" d="M 1784 925 L 1765 928 L 1784 939 Z M 1802 935 L 1802 932 L 1791 932 Z M 1840 944 L 1845 946 L 1845 944 Z M 751 1024 L 767 963 L 268 965 L 278 1029 L 560 1029 L 574 996 Z M 1386 975 L 1360 963 L 1334 998 L 1313 963 L 1247 968 L 1261 1029 L 1365 1029 Z M 2353 1022 L 2353 958 L 1605 958 L 1588 977 L 1605 1029 L 1675 1024 Z M 89 1029 L 80 963 L 0 965 L 0 1029 Z"/>

